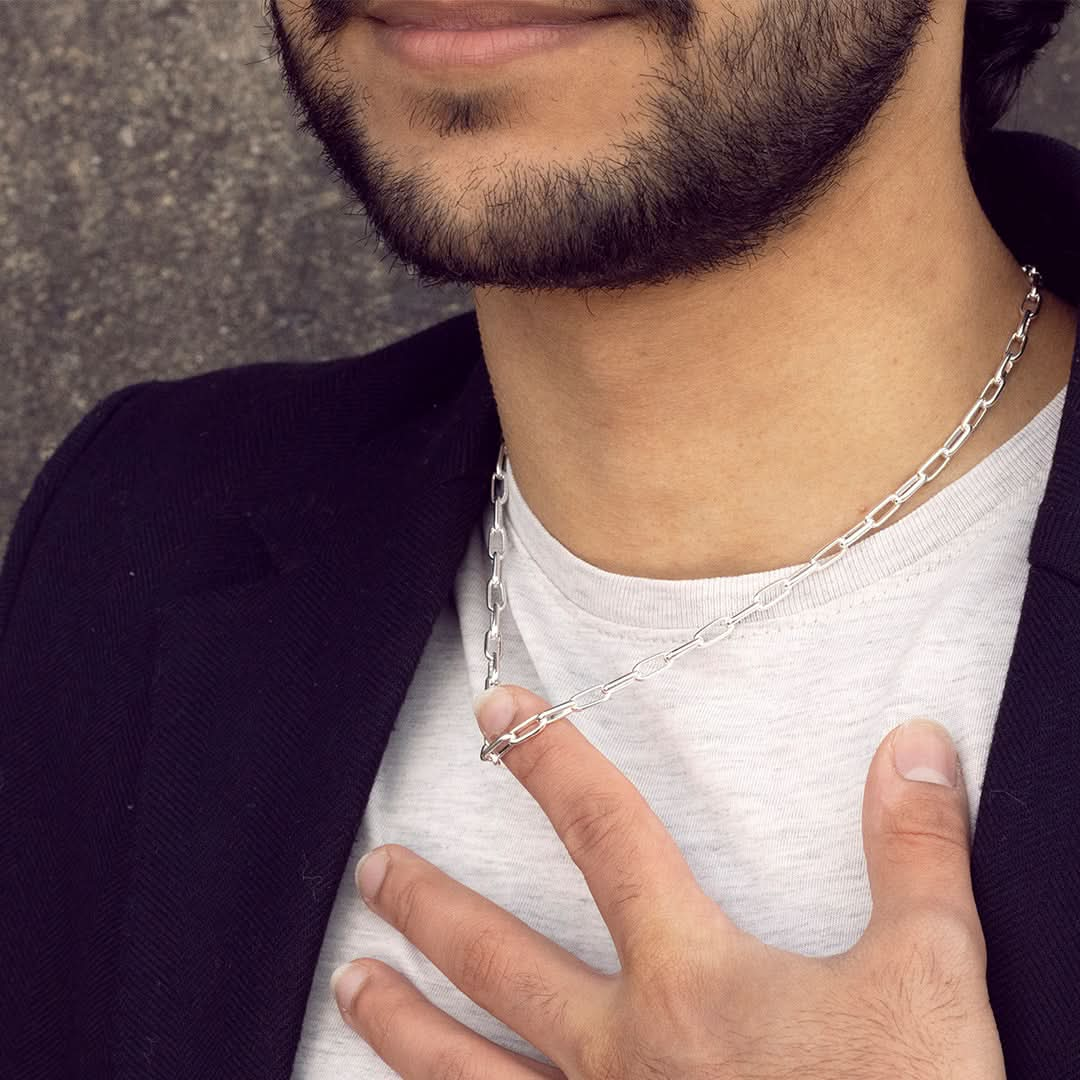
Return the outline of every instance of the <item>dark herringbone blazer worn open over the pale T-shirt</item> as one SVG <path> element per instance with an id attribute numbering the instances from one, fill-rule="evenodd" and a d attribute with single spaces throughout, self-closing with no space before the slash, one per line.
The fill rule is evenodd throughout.
<path id="1" fill-rule="evenodd" d="M 1080 151 L 997 132 L 973 175 L 1076 302 Z M 500 438 L 472 311 L 124 387 L 68 434 L 0 573 L 0 1076 L 289 1076 Z M 1080 341 L 1029 558 L 972 874 L 1010 1080 L 1075 1080 Z"/>

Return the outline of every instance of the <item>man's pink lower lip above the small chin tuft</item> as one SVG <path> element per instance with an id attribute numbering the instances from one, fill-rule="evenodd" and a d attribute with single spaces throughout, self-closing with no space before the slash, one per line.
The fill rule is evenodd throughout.
<path id="1" fill-rule="evenodd" d="M 388 26 L 378 19 L 373 19 L 373 23 L 375 39 L 382 49 L 419 67 L 436 68 L 501 64 L 518 56 L 582 42 L 622 17 L 609 15 L 558 25 L 494 26 L 485 30 Z"/>

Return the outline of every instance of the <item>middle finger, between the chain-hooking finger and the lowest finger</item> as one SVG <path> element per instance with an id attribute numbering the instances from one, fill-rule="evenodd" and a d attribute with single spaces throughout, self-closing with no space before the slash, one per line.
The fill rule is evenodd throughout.
<path id="1" fill-rule="evenodd" d="M 600 1022 L 610 976 L 415 851 L 375 848 L 356 887 L 458 989 L 552 1061 L 572 1056 Z"/>

